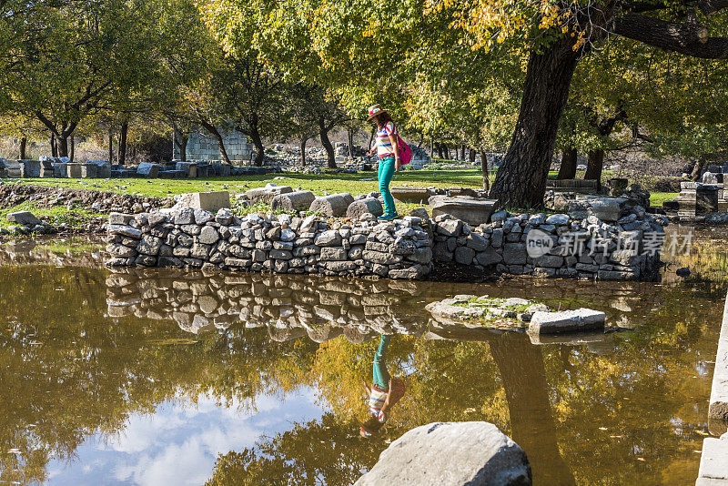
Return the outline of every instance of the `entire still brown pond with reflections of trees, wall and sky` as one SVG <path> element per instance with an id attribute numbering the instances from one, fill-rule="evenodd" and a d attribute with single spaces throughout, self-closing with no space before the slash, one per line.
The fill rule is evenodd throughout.
<path id="1" fill-rule="evenodd" d="M 721 232 L 693 243 L 662 283 L 627 284 L 112 273 L 93 246 L 6 244 L 0 484 L 349 484 L 439 420 L 495 423 L 534 484 L 693 484 L 721 431 L 706 417 L 726 291 Z M 532 342 L 430 322 L 426 303 L 462 293 L 600 309 L 614 329 Z M 379 332 L 408 390 L 363 439 Z"/>

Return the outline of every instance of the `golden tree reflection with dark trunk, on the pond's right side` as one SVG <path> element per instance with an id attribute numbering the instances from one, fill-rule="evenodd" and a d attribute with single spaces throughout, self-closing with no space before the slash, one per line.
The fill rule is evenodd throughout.
<path id="1" fill-rule="evenodd" d="M 527 451 L 538 484 L 692 482 L 710 382 L 695 364 L 713 359 L 716 333 L 705 323 L 719 322 L 720 306 L 709 302 L 720 302 L 723 293 L 704 286 L 692 294 L 686 299 L 682 289 L 668 288 L 659 307 L 636 303 L 633 312 L 649 314 L 641 332 L 613 334 L 591 349 L 532 346 L 518 334 L 457 343 L 400 337 L 390 344 L 389 363 L 394 374 L 409 373 L 410 391 L 383 439 L 430 421 L 488 420 Z M 369 371 L 373 346 L 334 339 L 317 351 L 313 384 L 345 422 L 361 407 L 356 378 Z M 289 432 L 302 436 L 287 436 L 300 443 L 287 450 L 289 466 L 306 461 L 304 437 L 319 425 Z M 353 426 L 340 430 L 339 440 L 354 433 Z M 248 477 L 280 440 L 222 456 L 211 483 L 231 483 L 232 471 Z M 379 441 L 379 450 L 385 447 Z M 283 461 L 280 452 L 275 457 Z M 373 464 L 353 446 L 345 460 Z M 323 469 L 318 474 L 338 483 Z"/>

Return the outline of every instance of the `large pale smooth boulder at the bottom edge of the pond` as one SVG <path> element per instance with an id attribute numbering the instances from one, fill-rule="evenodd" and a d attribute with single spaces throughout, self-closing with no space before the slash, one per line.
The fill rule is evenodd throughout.
<path id="1" fill-rule="evenodd" d="M 531 484 L 521 447 L 488 422 L 438 422 L 412 429 L 381 453 L 356 486 Z"/>

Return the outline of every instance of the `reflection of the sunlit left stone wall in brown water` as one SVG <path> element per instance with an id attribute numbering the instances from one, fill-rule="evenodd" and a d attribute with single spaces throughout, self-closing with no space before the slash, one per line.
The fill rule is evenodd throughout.
<path id="1" fill-rule="evenodd" d="M 106 278 L 111 317 L 174 319 L 196 334 L 241 321 L 248 328 L 268 327 L 275 340 L 308 334 L 323 342 L 344 334 L 362 342 L 379 333 L 421 334 L 427 319 L 420 317 L 420 306 L 417 312 L 404 305 L 418 293 L 414 282 L 251 273 L 206 277 L 179 271 L 159 277 L 122 269 Z"/>

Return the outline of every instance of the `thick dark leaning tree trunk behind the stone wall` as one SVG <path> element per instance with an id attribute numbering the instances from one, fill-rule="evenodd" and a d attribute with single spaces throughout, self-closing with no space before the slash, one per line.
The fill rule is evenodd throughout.
<path id="1" fill-rule="evenodd" d="M 495 177 L 490 197 L 514 208 L 541 208 L 561 114 L 581 49 L 564 36 L 540 53 L 531 51 L 521 111 L 511 147 Z"/>

